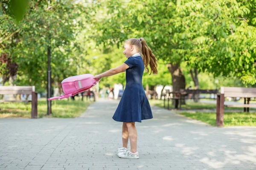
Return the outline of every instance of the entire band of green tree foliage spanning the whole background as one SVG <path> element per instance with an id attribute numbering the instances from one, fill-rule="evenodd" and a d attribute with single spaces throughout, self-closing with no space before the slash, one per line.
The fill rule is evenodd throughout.
<path id="1" fill-rule="evenodd" d="M 69 76 L 121 65 L 123 43 L 132 37 L 144 37 L 159 61 L 159 73 L 145 73 L 144 84 L 171 84 L 170 62 L 181 63 L 187 85 L 193 86 L 189 70 L 198 68 L 200 88 L 215 88 L 215 79 L 217 87 L 241 82 L 249 87 L 256 81 L 255 0 L 30 0 L 21 20 L 28 1 L 0 3 L 0 53 L 17 63 L 16 85 L 44 91 L 48 45 L 52 85 L 57 86 Z M 20 12 L 14 14 L 11 7 Z M 5 63 L 3 74 L 8 74 Z M 100 87 L 114 82 L 124 84 L 125 73 L 102 79 Z"/>

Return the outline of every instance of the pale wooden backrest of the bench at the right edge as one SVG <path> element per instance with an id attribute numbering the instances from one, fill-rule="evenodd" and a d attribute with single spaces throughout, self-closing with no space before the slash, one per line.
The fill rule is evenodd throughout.
<path id="1" fill-rule="evenodd" d="M 221 87 L 224 97 L 256 97 L 256 88 Z"/>

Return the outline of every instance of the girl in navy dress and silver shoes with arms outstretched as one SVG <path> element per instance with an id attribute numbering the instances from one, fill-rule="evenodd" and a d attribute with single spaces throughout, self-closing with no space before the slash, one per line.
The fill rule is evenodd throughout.
<path id="1" fill-rule="evenodd" d="M 122 65 L 112 68 L 102 74 L 96 75 L 94 79 L 100 81 L 102 77 L 112 76 L 126 71 L 125 91 L 113 115 L 113 119 L 123 122 L 122 125 L 122 148 L 118 149 L 120 158 L 138 159 L 137 152 L 137 129 L 135 122 L 144 119 L 152 119 L 152 111 L 146 97 L 142 77 L 144 68 L 148 72 L 148 64 L 151 72 L 157 74 L 157 59 L 143 38 L 131 38 L 125 41 L 123 54 L 128 58 Z M 131 150 L 128 150 L 128 139 L 130 139 Z"/>

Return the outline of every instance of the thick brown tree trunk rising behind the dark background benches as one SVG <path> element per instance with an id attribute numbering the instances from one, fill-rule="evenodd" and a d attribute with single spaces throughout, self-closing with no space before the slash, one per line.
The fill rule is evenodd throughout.
<path id="1" fill-rule="evenodd" d="M 167 67 L 172 74 L 172 91 L 180 91 L 180 89 L 185 89 L 185 77 L 180 69 L 180 64 L 167 64 Z M 174 101 L 174 100 L 173 100 Z M 172 103 L 174 105 L 174 102 Z M 185 105 L 185 96 L 181 96 L 181 104 Z"/>

